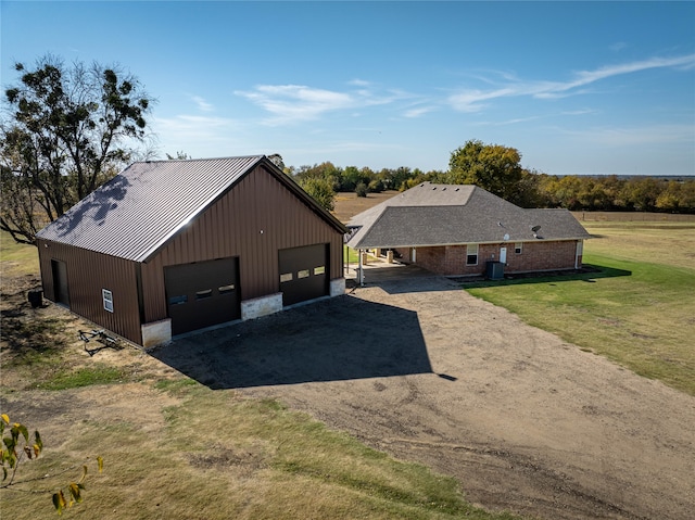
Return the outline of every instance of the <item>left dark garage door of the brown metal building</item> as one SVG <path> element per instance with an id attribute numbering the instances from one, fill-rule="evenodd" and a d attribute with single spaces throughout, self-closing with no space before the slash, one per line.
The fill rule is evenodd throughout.
<path id="1" fill-rule="evenodd" d="M 238 258 L 166 267 L 164 281 L 172 334 L 241 317 Z"/>

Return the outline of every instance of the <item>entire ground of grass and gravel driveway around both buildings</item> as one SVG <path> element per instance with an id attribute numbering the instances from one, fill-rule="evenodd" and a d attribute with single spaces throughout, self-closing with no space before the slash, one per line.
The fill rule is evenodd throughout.
<path id="1" fill-rule="evenodd" d="M 539 518 L 688 518 L 695 226 L 584 224 L 599 270 L 467 288 L 561 339 L 414 281 L 152 356 L 86 354 L 86 324 L 25 303 L 35 261 L 2 237 L 2 411 L 46 445 L 22 487 L 102 455 L 70 517 L 511 518 L 463 489 Z M 55 516 L 48 495 L 0 499 Z"/>

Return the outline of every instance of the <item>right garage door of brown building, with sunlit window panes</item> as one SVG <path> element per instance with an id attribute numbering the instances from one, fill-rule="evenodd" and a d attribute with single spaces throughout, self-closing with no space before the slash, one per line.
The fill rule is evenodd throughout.
<path id="1" fill-rule="evenodd" d="M 280 250 L 282 305 L 328 294 L 328 244 Z"/>

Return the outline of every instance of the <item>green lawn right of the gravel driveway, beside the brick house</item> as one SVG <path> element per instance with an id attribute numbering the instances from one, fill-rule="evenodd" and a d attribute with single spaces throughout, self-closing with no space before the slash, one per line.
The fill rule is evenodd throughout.
<path id="1" fill-rule="evenodd" d="M 530 325 L 695 395 L 695 226 L 584 223 L 597 272 L 466 286 Z"/>

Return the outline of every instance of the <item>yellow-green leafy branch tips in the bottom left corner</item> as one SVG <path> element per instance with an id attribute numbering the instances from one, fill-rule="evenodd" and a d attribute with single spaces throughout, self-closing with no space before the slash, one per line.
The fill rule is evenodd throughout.
<path id="1" fill-rule="evenodd" d="M 5 430 L 9 435 L 5 435 Z M 26 426 L 21 422 L 12 423 L 7 414 L 0 416 L 0 436 L 2 436 L 2 484 L 0 484 L 0 489 L 8 489 L 16 484 L 14 479 L 24 457 L 26 456 L 28 460 L 36 459 L 43 451 L 43 442 L 38 431 L 35 431 L 31 437 Z M 103 470 L 101 457 L 97 457 L 97 465 L 101 473 Z M 84 465 L 81 478 L 77 482 L 70 482 L 64 489 L 61 487 L 53 493 L 53 507 L 59 515 L 62 515 L 66 507 L 83 502 L 87 472 L 87 466 Z M 67 493 L 64 493 L 65 490 Z M 70 498 L 66 499 L 65 496 Z"/>

